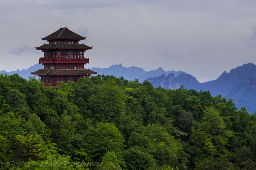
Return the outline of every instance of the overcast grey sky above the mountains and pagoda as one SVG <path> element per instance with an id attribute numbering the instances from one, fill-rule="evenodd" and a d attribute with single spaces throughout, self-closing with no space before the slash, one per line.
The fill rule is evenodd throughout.
<path id="1" fill-rule="evenodd" d="M 162 67 L 205 82 L 256 64 L 254 0 L 1 0 L 0 15 L 0 70 L 38 63 L 40 37 L 65 26 L 93 46 L 86 68 Z"/>

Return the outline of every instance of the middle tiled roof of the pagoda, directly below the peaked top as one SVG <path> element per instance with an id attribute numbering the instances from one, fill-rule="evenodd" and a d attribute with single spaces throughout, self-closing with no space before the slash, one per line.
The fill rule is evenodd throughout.
<path id="1" fill-rule="evenodd" d="M 92 47 L 89 47 L 84 44 L 44 44 L 40 47 L 36 47 L 38 50 L 44 50 L 44 49 L 92 49 Z"/>

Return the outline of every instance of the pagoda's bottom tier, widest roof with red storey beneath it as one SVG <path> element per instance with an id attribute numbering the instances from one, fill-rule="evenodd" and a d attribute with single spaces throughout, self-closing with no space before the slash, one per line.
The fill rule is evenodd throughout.
<path id="1" fill-rule="evenodd" d="M 67 81 L 77 82 L 79 78 L 89 78 L 92 74 L 97 74 L 97 72 L 89 69 L 80 69 L 80 70 L 69 70 L 69 69 L 40 69 L 35 72 L 31 72 L 33 75 L 39 76 L 39 81 L 44 83 L 44 87 L 49 85 L 57 86 L 60 81 L 67 83 Z"/>

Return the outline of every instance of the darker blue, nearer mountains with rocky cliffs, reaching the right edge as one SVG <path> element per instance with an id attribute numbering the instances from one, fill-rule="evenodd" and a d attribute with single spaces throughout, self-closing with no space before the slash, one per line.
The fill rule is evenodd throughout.
<path id="1" fill-rule="evenodd" d="M 221 95 L 227 99 L 234 99 L 236 107 L 245 106 L 249 113 L 256 111 L 256 65 L 252 63 L 244 64 L 230 70 L 224 71 L 216 80 L 199 83 L 195 77 L 190 74 L 180 74 L 177 77 L 161 75 L 155 78 L 148 78 L 154 87 L 159 85 L 164 88 L 177 89 L 184 85 L 186 89 L 195 89 L 197 91 L 210 91 L 212 96 Z"/>

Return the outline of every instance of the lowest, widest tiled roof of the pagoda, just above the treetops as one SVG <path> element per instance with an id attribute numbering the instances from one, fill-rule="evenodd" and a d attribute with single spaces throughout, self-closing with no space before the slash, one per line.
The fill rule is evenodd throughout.
<path id="1" fill-rule="evenodd" d="M 78 70 L 69 70 L 69 69 L 41 69 L 35 72 L 31 72 L 31 74 L 37 75 L 89 75 L 89 74 L 97 74 L 98 72 L 89 70 L 89 69 L 78 69 Z"/>

